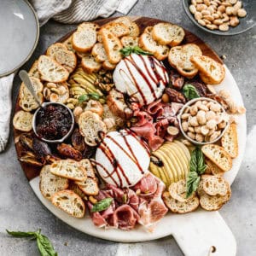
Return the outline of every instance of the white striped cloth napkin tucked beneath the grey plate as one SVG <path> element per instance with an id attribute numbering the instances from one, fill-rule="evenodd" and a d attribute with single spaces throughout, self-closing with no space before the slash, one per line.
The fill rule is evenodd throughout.
<path id="1" fill-rule="evenodd" d="M 30 0 L 38 14 L 40 26 L 53 18 L 62 23 L 79 23 L 97 17 L 106 18 L 115 11 L 126 15 L 137 0 Z M 9 138 L 11 90 L 15 73 L 0 79 L 0 152 Z"/>

